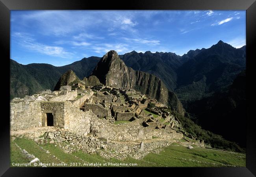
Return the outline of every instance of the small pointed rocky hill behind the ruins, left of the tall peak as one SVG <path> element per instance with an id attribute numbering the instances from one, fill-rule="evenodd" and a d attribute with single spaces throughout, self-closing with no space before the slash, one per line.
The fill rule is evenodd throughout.
<path id="1" fill-rule="evenodd" d="M 61 76 L 54 90 L 59 90 L 62 86 L 69 85 L 74 81 L 80 81 L 80 79 L 76 76 L 76 74 L 72 70 L 68 70 Z"/>

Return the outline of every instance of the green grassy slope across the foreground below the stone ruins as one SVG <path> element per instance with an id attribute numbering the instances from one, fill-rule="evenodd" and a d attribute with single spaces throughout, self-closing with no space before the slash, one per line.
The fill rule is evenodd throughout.
<path id="1" fill-rule="evenodd" d="M 127 158 L 125 160 L 105 159 L 98 154 L 89 155 L 82 151 L 76 151 L 72 154 L 64 153 L 58 146 L 54 144 L 41 145 L 43 149 L 50 151 L 46 153 L 33 140 L 16 138 L 15 142 L 22 148 L 26 149 L 28 153 L 35 155 L 43 163 L 60 163 L 65 162 L 80 162 L 81 166 L 84 163 L 137 163 L 137 166 L 168 166 L 168 167 L 221 167 L 224 164 L 235 166 L 246 166 L 245 154 L 234 153 L 230 151 L 219 151 L 214 149 L 206 149 L 195 147 L 194 149 L 187 149 L 178 143 L 171 144 L 171 146 L 163 148 L 160 154 L 149 153 L 141 160 Z M 55 157 L 56 156 L 57 159 Z M 28 160 L 27 160 L 28 161 Z M 20 150 L 11 143 L 11 162 L 27 162 L 20 153 Z M 86 167 L 86 165 L 85 165 Z"/>

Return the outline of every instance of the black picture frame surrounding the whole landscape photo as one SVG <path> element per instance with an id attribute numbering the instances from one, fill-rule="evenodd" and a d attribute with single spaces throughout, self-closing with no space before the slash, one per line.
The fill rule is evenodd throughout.
<path id="1" fill-rule="evenodd" d="M 9 87 L 7 83 L 10 82 L 8 78 L 9 71 L 9 55 L 10 55 L 10 10 L 246 10 L 246 45 L 247 45 L 247 111 L 246 124 L 247 124 L 247 152 L 246 152 L 246 167 L 241 168 L 164 168 L 160 174 L 162 175 L 184 175 L 187 173 L 189 176 L 230 176 L 230 177 L 244 177 L 256 175 L 256 131 L 255 125 L 253 124 L 254 116 L 249 116 L 251 105 L 249 100 L 252 99 L 248 81 L 250 81 L 250 71 L 252 70 L 251 64 L 255 59 L 254 44 L 256 42 L 256 2 L 255 0 L 130 0 L 126 2 L 111 2 L 111 1 L 85 1 L 85 0 L 0 0 L 0 35 L 1 42 L 0 47 L 2 49 L 2 55 L 4 57 L 1 60 L 1 78 L 2 83 L 2 94 L 5 95 L 2 98 L 2 109 L 6 114 L 2 114 L 2 133 L 1 136 L 1 165 L 0 175 L 2 176 L 52 176 L 53 171 L 58 170 L 58 174 L 61 173 L 72 173 L 78 175 L 80 172 L 83 175 L 88 174 L 88 168 L 10 168 L 9 159 Z M 248 79 L 249 78 L 249 79 Z M 3 87 L 4 86 L 4 87 Z M 250 93 L 250 94 L 249 94 Z M 253 104 L 252 104 L 253 105 Z M 6 111 L 5 111 L 6 110 Z M 244 118 L 241 118 L 244 120 Z M 116 175 L 122 175 L 126 172 L 132 172 L 134 168 L 104 168 L 104 172 L 108 170 L 115 170 Z M 143 173 L 161 170 L 158 168 L 140 168 L 143 169 Z M 91 168 L 91 172 L 98 173 L 98 168 Z M 121 171 L 120 171 L 121 170 Z M 79 171 L 79 172 L 78 172 Z M 85 172 L 86 171 L 86 172 Z M 102 172 L 103 170 L 101 170 Z M 120 172 L 120 173 L 119 173 Z M 159 171 L 160 172 L 160 171 Z M 127 174 L 128 174 L 127 173 Z"/>

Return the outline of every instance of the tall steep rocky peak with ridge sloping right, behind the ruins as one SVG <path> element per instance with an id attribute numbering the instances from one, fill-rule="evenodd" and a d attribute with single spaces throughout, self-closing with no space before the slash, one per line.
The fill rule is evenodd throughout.
<path id="1" fill-rule="evenodd" d="M 182 104 L 176 94 L 169 91 L 161 79 L 127 67 L 114 50 L 109 51 L 101 58 L 92 75 L 98 77 L 104 85 L 138 90 L 184 114 Z"/>

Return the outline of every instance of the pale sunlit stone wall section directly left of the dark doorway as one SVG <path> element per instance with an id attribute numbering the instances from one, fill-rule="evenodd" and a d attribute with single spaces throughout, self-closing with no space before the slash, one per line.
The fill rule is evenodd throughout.
<path id="1" fill-rule="evenodd" d="M 38 101 L 10 103 L 10 128 L 12 131 L 41 127 L 41 105 Z"/>

